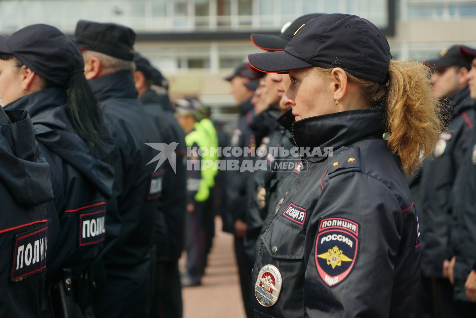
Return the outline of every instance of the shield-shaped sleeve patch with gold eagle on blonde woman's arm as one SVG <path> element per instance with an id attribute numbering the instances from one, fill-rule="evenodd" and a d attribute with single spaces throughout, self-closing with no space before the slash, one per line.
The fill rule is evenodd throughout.
<path id="1" fill-rule="evenodd" d="M 336 286 L 350 273 L 357 260 L 359 224 L 346 218 L 322 219 L 316 239 L 316 267 L 328 286 Z"/>

